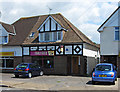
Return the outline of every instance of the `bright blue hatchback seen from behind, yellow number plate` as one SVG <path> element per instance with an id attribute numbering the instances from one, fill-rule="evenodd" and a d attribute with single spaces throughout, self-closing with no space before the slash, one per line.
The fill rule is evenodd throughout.
<path id="1" fill-rule="evenodd" d="M 113 64 L 101 63 L 97 64 L 92 73 L 92 83 L 111 82 L 115 84 L 117 80 L 117 69 Z"/>

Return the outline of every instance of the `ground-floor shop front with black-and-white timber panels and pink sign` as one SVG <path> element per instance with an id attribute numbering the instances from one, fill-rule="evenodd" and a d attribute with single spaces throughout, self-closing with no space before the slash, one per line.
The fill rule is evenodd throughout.
<path id="1" fill-rule="evenodd" d="M 23 57 L 23 62 L 30 61 L 42 66 L 45 74 L 80 75 L 80 66 L 84 62 L 81 62 L 84 60 L 82 44 L 25 46 Z"/>

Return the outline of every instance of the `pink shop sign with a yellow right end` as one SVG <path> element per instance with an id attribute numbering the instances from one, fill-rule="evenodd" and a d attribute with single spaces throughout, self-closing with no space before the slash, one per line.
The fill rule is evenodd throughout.
<path id="1" fill-rule="evenodd" d="M 31 51 L 31 56 L 54 56 L 54 51 Z"/>

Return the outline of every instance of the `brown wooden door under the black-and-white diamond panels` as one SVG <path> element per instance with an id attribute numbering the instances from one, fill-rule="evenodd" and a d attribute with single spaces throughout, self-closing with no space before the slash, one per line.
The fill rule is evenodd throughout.
<path id="1" fill-rule="evenodd" d="M 78 57 L 72 58 L 72 74 L 78 74 Z"/>

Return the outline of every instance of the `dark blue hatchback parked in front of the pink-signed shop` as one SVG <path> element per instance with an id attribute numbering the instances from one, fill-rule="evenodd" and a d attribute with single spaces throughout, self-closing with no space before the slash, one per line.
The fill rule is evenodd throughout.
<path id="1" fill-rule="evenodd" d="M 14 75 L 15 77 L 19 77 L 19 75 L 22 75 L 31 78 L 34 75 L 42 76 L 43 70 L 39 65 L 36 65 L 34 63 L 22 63 L 14 69 Z"/>

